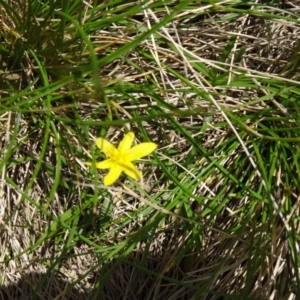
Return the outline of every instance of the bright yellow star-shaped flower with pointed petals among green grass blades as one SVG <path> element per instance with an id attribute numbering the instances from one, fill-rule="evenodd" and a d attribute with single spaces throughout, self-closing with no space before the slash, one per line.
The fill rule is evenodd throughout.
<path id="1" fill-rule="evenodd" d="M 124 172 L 129 177 L 139 180 L 141 172 L 134 166 L 132 161 L 142 158 L 153 152 L 157 145 L 154 143 L 141 143 L 132 146 L 134 133 L 128 132 L 120 142 L 118 149 L 105 139 L 96 139 L 96 145 L 108 157 L 108 159 L 95 164 L 98 169 L 110 169 L 104 177 L 104 185 L 112 185 Z M 87 163 L 87 165 L 92 165 Z"/>

